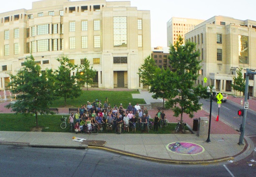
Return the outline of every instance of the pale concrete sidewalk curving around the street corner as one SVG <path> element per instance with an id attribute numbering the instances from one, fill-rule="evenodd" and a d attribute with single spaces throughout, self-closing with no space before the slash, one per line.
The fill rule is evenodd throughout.
<path id="1" fill-rule="evenodd" d="M 72 140 L 73 136 L 86 140 L 107 141 L 104 147 L 83 145 Z M 0 145 L 19 145 L 50 148 L 98 148 L 114 153 L 130 155 L 142 159 L 182 164 L 207 164 L 233 160 L 235 156 L 249 150 L 250 146 L 239 146 L 239 135 L 211 135 L 211 143 L 206 137 L 195 134 L 103 134 L 88 135 L 51 132 L 8 132 L 0 131 Z M 202 148 L 195 154 L 172 151 L 171 143 L 186 142 L 191 148 Z M 180 153 L 182 152 L 182 153 Z"/>

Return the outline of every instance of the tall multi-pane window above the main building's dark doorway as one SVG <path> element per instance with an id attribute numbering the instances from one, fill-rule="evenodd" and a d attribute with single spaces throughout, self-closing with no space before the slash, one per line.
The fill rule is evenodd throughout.
<path id="1" fill-rule="evenodd" d="M 126 17 L 113 17 L 114 47 L 127 47 Z"/>

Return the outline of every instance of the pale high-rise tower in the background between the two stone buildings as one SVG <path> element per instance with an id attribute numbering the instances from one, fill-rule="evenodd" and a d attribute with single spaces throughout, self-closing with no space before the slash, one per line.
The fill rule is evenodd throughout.
<path id="1" fill-rule="evenodd" d="M 204 20 L 188 19 L 172 17 L 167 22 L 167 46 L 174 45 L 179 37 L 182 36 L 184 42 L 184 34 L 194 29 L 194 27 Z"/>

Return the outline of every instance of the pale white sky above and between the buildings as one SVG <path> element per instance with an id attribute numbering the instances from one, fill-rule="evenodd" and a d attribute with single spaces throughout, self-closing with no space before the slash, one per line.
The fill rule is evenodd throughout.
<path id="1" fill-rule="evenodd" d="M 17 9 L 31 9 L 37 0 L 10 0 L 1 3 L 0 13 Z M 78 1 L 78 0 L 70 0 Z M 255 20 L 256 0 L 107 0 L 131 1 L 138 10 L 150 10 L 151 47 L 167 47 L 167 22 L 172 17 L 207 20 L 213 16 L 227 16 L 239 20 Z"/>

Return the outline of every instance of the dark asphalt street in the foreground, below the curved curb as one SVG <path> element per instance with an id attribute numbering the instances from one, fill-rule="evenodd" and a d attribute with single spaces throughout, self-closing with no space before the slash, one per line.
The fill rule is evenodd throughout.
<path id="1" fill-rule="evenodd" d="M 106 151 L 0 146 L 0 177 L 253 177 L 255 168 L 174 165 Z M 231 171 L 229 170 L 231 168 Z"/>

